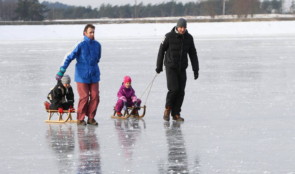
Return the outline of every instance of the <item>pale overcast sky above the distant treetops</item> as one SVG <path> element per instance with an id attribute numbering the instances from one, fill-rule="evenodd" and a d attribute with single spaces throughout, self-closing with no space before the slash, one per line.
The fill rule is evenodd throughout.
<path id="1" fill-rule="evenodd" d="M 86 0 L 86 1 L 81 1 L 81 0 L 47 0 L 47 1 L 51 1 L 51 2 L 60 2 L 63 4 L 68 4 L 68 5 L 76 5 L 76 6 L 87 6 L 87 5 L 91 5 L 92 8 L 95 7 L 99 7 L 101 4 L 105 3 L 105 4 L 112 4 L 112 5 L 122 5 L 122 4 L 131 4 L 134 5 L 135 4 L 135 0 Z M 158 4 L 161 2 L 169 2 L 170 0 L 137 0 L 137 4 L 139 4 L 140 2 L 143 2 L 144 4 Z M 186 2 L 190 2 L 190 1 L 196 1 L 196 0 L 176 0 L 176 2 L 182 2 L 183 4 L 185 4 Z M 261 0 L 262 1 L 262 0 Z M 292 0 L 285 0 L 286 1 L 286 6 L 289 5 L 289 3 Z M 42 0 L 40 0 L 40 3 L 42 2 Z"/>

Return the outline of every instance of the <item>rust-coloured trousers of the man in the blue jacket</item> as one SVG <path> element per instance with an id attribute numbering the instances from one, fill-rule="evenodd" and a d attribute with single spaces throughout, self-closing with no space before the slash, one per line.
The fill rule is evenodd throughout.
<path id="1" fill-rule="evenodd" d="M 90 84 L 77 82 L 77 90 L 79 94 L 77 120 L 84 120 L 85 116 L 94 118 L 99 104 L 99 82 Z"/>

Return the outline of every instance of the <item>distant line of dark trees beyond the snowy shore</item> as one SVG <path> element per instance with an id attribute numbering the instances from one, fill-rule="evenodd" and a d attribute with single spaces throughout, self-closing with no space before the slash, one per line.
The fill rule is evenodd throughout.
<path id="1" fill-rule="evenodd" d="M 211 16 L 223 14 L 223 0 L 198 0 L 183 4 L 175 0 L 158 4 L 111 5 L 101 4 L 99 8 L 89 5 L 71 6 L 59 2 L 38 0 L 0 0 L 0 21 L 42 21 L 56 19 L 142 18 L 172 16 Z M 248 17 L 253 14 L 281 13 L 281 0 L 226 0 L 225 15 Z M 290 12 L 295 13 L 292 0 Z"/>

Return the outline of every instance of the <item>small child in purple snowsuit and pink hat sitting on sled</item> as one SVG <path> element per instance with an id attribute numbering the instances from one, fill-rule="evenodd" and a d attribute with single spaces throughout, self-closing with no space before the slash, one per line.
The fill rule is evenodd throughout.
<path id="1" fill-rule="evenodd" d="M 141 100 L 137 99 L 135 95 L 135 91 L 131 87 L 131 78 L 129 76 L 124 77 L 124 82 L 122 83 L 122 86 L 120 87 L 117 96 L 118 96 L 118 101 L 116 103 L 115 110 L 118 116 L 122 116 L 122 113 L 121 113 L 122 109 L 127 111 L 127 107 L 134 106 L 136 102 L 137 104 L 135 105 L 135 107 L 139 107 L 141 104 Z M 140 107 L 138 108 L 138 110 L 139 109 Z M 135 110 L 133 112 L 136 113 Z"/>

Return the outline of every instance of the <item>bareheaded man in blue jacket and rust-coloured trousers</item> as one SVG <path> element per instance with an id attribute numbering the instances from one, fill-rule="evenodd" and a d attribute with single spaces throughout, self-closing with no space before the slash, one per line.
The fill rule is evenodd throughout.
<path id="1" fill-rule="evenodd" d="M 77 111 L 78 125 L 86 125 L 85 116 L 88 117 L 87 124 L 98 125 L 94 117 L 99 104 L 100 71 L 98 62 L 101 57 L 101 44 L 94 39 L 94 30 L 95 27 L 90 23 L 85 26 L 84 38 L 77 41 L 65 55 L 60 65 L 60 71 L 55 77 L 56 80 L 60 80 L 70 63 L 74 59 L 77 60 L 75 81 L 80 97 Z"/>

